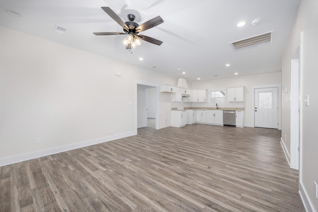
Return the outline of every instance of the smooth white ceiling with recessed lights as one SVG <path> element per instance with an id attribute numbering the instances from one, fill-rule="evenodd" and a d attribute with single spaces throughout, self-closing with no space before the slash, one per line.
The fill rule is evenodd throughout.
<path id="1" fill-rule="evenodd" d="M 299 0 L 0 0 L 0 25 L 193 82 L 281 71 L 298 4 Z M 122 32 L 101 6 L 109 6 L 124 21 L 133 13 L 139 24 L 160 15 L 164 23 L 141 34 L 163 43 L 143 41 L 129 51 L 121 43 L 126 35 L 94 35 Z M 253 26 L 256 18 L 261 22 Z M 247 24 L 238 28 L 242 20 Z M 68 30 L 58 34 L 57 25 Z M 229 44 L 272 30 L 271 44 L 237 52 Z"/>

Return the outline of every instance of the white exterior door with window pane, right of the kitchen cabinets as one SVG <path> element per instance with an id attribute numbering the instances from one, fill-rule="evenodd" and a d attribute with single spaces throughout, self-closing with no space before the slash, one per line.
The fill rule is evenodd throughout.
<path id="1" fill-rule="evenodd" d="M 278 88 L 254 89 L 255 127 L 278 129 Z"/>

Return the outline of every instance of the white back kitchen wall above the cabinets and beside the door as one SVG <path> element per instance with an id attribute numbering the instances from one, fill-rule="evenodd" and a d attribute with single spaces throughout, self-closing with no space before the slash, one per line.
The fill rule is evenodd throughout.
<path id="1" fill-rule="evenodd" d="M 244 103 L 230 103 L 227 106 L 230 107 L 245 107 L 244 111 L 244 126 L 254 126 L 254 87 L 267 86 L 267 85 L 280 85 L 281 84 L 281 72 L 252 75 L 247 77 L 235 77 L 220 80 L 200 81 L 192 83 L 193 89 L 222 89 L 230 87 L 244 86 Z M 210 106 L 205 103 L 206 106 Z M 194 106 L 194 105 L 193 105 Z M 204 106 L 204 104 L 198 104 L 198 106 Z"/>

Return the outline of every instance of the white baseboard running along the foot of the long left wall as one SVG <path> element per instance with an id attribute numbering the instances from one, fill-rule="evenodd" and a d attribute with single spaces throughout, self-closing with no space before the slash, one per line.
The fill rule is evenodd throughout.
<path id="1" fill-rule="evenodd" d="M 81 147 L 90 146 L 90 145 L 103 143 L 103 142 L 107 142 L 107 141 L 112 141 L 112 140 L 116 140 L 116 139 L 120 139 L 120 138 L 125 138 L 125 137 L 129 137 L 132 135 L 137 135 L 137 131 L 107 136 L 107 137 L 103 137 L 103 138 L 97 138 L 97 139 L 93 139 L 93 140 L 82 141 L 79 143 L 69 144 L 69 145 L 65 145 L 65 146 L 58 146 L 58 147 L 44 149 L 44 150 L 40 150 L 40 151 L 36 151 L 36 152 L 30 152 L 30 153 L 26 153 L 26 154 L 22 154 L 22 155 L 15 155 L 15 156 L 6 157 L 6 158 L 0 158 L 0 166 L 6 166 L 9 164 L 18 163 L 18 162 L 22 162 L 22 161 L 26 161 L 26 160 L 31 160 L 34 158 L 48 156 L 48 155 L 52 155 L 52 154 L 56 154 L 56 153 L 60 153 L 60 152 L 65 152 L 65 151 L 69 151 L 69 150 L 73 150 L 73 149 L 78 149 Z"/>

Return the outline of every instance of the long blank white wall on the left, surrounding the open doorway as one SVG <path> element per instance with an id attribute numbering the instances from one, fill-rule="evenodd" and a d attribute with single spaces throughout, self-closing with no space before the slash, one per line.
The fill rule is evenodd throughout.
<path id="1" fill-rule="evenodd" d="M 0 27 L 0 166 L 136 133 L 135 80 L 177 81 Z"/>

